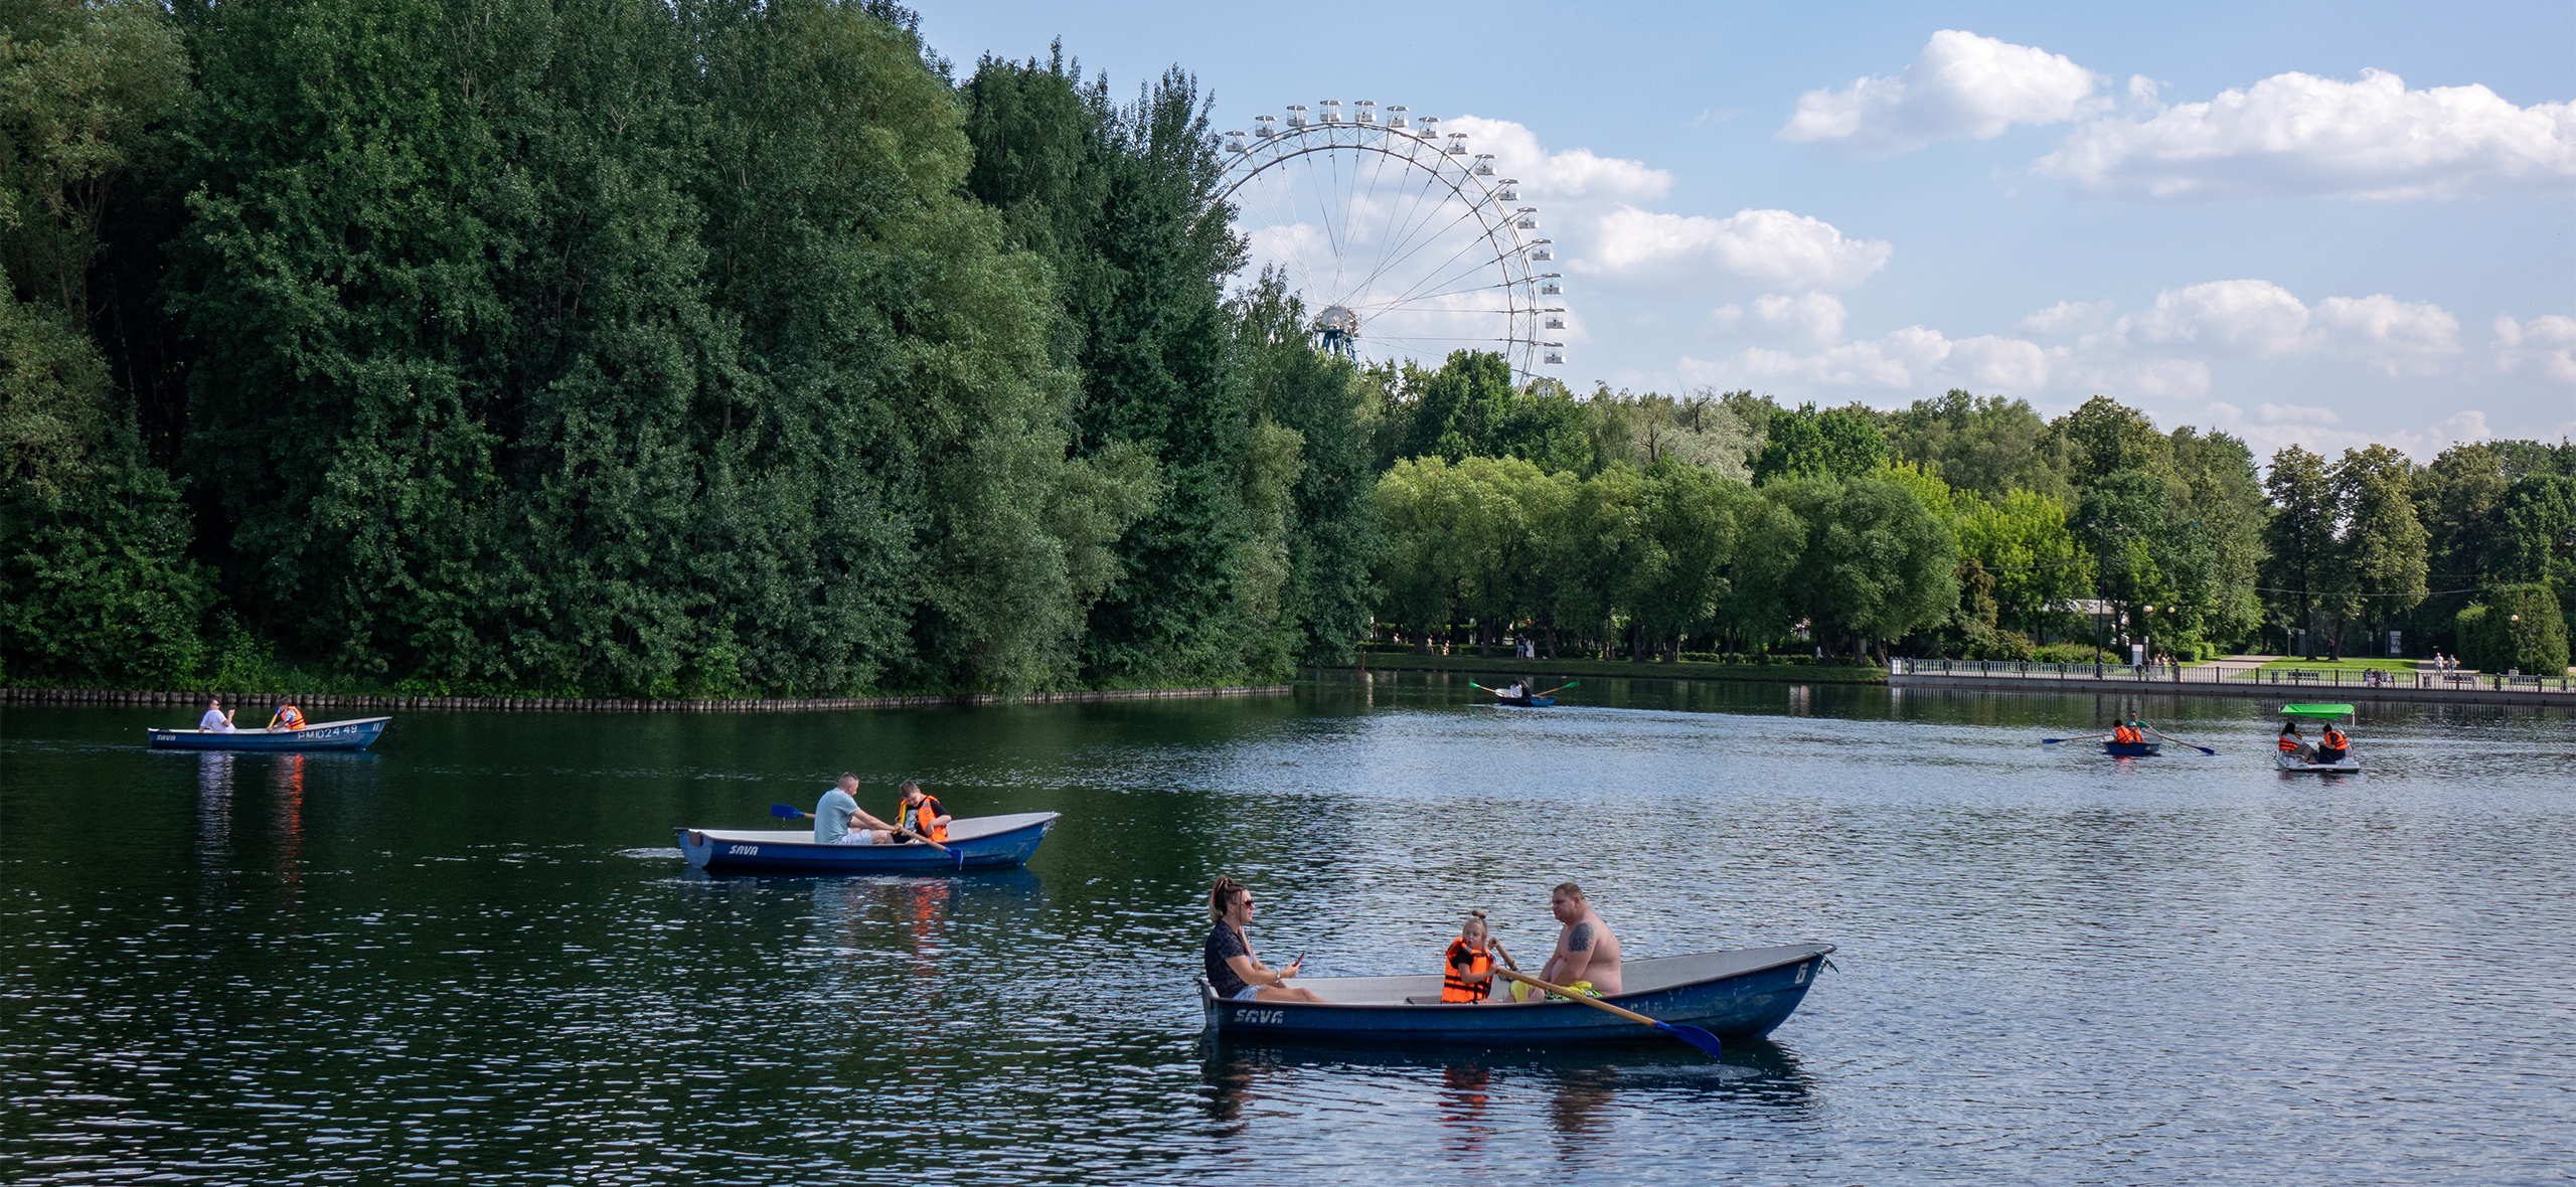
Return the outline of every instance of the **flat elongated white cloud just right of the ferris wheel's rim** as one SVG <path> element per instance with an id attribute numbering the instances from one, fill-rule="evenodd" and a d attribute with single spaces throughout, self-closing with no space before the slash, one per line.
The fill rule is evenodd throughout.
<path id="1" fill-rule="evenodd" d="M 1847 239 L 1834 224 L 1790 211 L 1726 219 L 1623 206 L 1595 224 L 1579 273 L 1618 281 L 1734 278 L 1762 288 L 1852 288 L 1896 255 L 1886 239 Z"/>

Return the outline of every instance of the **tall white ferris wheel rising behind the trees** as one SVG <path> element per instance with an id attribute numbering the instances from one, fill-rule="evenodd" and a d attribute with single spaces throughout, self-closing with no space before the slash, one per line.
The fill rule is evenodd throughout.
<path id="1" fill-rule="evenodd" d="M 1218 201 L 1252 263 L 1285 273 L 1345 358 L 1440 366 L 1499 353 L 1517 381 L 1566 360 L 1564 276 L 1520 180 L 1463 131 L 1406 108 L 1291 103 L 1226 131 Z"/>

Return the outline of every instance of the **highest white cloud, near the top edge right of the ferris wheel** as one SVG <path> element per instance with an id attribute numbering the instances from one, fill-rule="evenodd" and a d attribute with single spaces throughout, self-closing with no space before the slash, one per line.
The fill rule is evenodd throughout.
<path id="1" fill-rule="evenodd" d="M 1780 139 L 1832 142 L 1857 154 L 1950 136 L 1994 139 L 2012 124 L 2063 124 L 2102 111 L 2107 103 L 2094 98 L 2102 82 L 2061 54 L 1942 28 L 1896 75 L 1801 95 Z"/>

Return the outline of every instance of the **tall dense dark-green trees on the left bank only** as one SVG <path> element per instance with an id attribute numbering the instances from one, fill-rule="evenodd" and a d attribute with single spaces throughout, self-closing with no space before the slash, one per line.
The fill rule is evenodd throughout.
<path id="1" fill-rule="evenodd" d="M 10 680 L 1234 682 L 1368 613 L 1358 386 L 1206 98 L 884 3 L 10 5 Z"/>

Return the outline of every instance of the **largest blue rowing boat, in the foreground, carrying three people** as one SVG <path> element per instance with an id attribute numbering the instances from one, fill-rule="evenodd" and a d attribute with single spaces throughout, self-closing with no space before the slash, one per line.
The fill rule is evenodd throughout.
<path id="1" fill-rule="evenodd" d="M 1834 945 L 1806 942 L 1734 953 L 1662 955 L 1620 963 L 1615 1007 L 1718 1038 L 1762 1038 L 1788 1020 Z M 1579 1002 L 1448 1004 L 1440 976 L 1301 976 L 1314 1002 L 1218 999 L 1198 978 L 1208 1030 L 1226 1038 L 1293 1043 L 1494 1043 L 1561 1045 L 1656 1040 L 1662 1030 Z"/>

